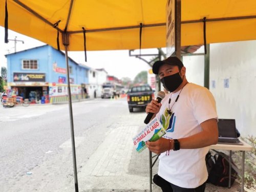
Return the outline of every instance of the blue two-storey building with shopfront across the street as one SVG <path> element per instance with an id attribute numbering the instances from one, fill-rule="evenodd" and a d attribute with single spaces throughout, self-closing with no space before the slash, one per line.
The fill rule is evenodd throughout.
<path id="1" fill-rule="evenodd" d="M 68 79 L 65 54 L 49 45 L 7 54 L 7 81 L 16 95 L 46 102 L 68 99 Z M 89 67 L 69 58 L 72 99 L 85 96 L 89 82 Z"/>

